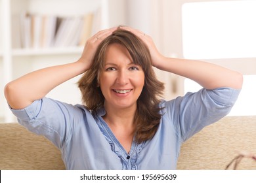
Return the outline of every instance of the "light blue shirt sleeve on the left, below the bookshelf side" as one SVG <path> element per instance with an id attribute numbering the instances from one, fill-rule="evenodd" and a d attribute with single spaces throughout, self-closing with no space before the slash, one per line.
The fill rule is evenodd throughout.
<path id="1" fill-rule="evenodd" d="M 77 107 L 46 97 L 26 108 L 11 110 L 21 125 L 37 135 L 47 137 L 58 148 L 62 148 L 64 142 L 71 138 L 74 116 L 81 115 Z"/>

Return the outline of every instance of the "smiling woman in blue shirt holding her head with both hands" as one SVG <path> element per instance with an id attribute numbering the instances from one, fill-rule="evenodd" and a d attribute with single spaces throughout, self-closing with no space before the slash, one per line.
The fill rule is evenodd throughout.
<path id="1" fill-rule="evenodd" d="M 203 86 L 171 101 L 152 66 Z M 84 105 L 45 97 L 79 80 Z M 78 61 L 29 73 L 7 84 L 18 122 L 45 135 L 67 169 L 175 169 L 182 142 L 223 118 L 242 88 L 242 75 L 202 61 L 162 56 L 148 35 L 114 27 L 91 37 Z"/>

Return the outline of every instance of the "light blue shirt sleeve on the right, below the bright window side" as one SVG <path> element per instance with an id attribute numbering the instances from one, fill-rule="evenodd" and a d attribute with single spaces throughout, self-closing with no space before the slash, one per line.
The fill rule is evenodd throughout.
<path id="1" fill-rule="evenodd" d="M 206 125 L 217 122 L 226 116 L 238 99 L 240 90 L 217 88 L 186 93 L 169 101 L 170 118 L 182 141 L 186 141 Z"/>

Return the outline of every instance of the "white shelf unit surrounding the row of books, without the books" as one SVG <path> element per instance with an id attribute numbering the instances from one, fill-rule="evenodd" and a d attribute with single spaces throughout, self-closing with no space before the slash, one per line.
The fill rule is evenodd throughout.
<path id="1" fill-rule="evenodd" d="M 3 95 L 3 87 L 7 82 L 35 69 L 70 63 L 83 52 L 83 46 L 22 48 L 20 14 L 24 12 L 62 17 L 97 12 L 93 20 L 97 25 L 91 30 L 92 33 L 108 27 L 108 0 L 0 0 L 0 122 L 16 121 Z M 64 89 L 60 90 L 73 95 L 75 101 L 77 91 L 74 87 L 73 82 L 67 82 Z M 52 91 L 51 94 L 58 95 L 60 90 L 57 89 L 56 93 Z M 72 102 L 72 98 L 68 100 Z"/>

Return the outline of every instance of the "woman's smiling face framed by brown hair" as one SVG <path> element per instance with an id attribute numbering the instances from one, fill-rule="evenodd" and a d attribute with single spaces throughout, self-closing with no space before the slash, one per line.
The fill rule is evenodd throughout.
<path id="1" fill-rule="evenodd" d="M 136 108 L 144 86 L 144 71 L 133 63 L 124 46 L 114 43 L 106 50 L 99 82 L 106 108 Z"/>

